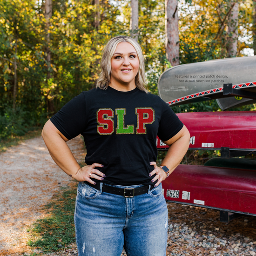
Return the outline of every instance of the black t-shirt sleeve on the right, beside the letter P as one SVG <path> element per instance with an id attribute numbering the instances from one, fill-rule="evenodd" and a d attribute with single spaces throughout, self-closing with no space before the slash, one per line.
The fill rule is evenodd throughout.
<path id="1" fill-rule="evenodd" d="M 158 128 L 158 137 L 162 141 L 168 141 L 176 135 L 183 127 L 182 121 L 173 110 L 161 99 L 162 115 Z"/>

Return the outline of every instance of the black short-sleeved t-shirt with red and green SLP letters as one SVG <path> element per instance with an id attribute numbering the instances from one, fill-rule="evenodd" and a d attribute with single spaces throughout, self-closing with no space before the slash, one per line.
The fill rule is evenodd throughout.
<path id="1" fill-rule="evenodd" d="M 154 169 L 149 162 L 157 158 L 156 135 L 167 141 L 183 127 L 159 96 L 138 88 L 82 92 L 51 121 L 69 140 L 83 135 L 85 162 L 104 165 L 97 168 L 106 175 L 104 182 L 123 186 L 152 185 L 148 174 Z"/>

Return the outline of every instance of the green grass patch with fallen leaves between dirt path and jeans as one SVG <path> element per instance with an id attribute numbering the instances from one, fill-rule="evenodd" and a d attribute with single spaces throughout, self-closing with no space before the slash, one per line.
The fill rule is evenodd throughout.
<path id="1" fill-rule="evenodd" d="M 34 224 L 32 234 L 34 239 L 28 242 L 29 246 L 40 248 L 45 252 L 58 250 L 75 242 L 74 207 L 77 182 L 71 188 L 63 189 L 54 196 L 46 209 L 50 214 L 39 219 Z"/>

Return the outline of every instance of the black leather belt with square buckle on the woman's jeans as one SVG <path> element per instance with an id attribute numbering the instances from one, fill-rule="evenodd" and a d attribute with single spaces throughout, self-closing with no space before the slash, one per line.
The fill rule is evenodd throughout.
<path id="1" fill-rule="evenodd" d="M 96 185 L 91 184 L 89 182 L 85 182 L 85 183 L 94 189 L 100 190 L 100 185 L 101 185 L 100 182 L 98 182 Z M 153 188 L 154 186 L 152 186 L 152 189 Z M 148 193 L 148 189 L 149 189 L 149 185 L 145 185 L 138 188 L 121 189 L 121 188 L 105 185 L 104 183 L 102 184 L 102 192 L 107 192 L 114 195 L 122 195 L 124 197 L 134 197 L 136 195 L 142 195 L 142 194 Z"/>

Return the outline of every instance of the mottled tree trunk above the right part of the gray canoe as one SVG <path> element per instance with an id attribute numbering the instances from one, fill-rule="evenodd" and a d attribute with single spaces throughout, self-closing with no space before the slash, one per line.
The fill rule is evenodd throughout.
<path id="1" fill-rule="evenodd" d="M 232 3 L 234 3 L 234 1 L 232 1 Z M 229 36 L 227 38 L 228 57 L 236 57 L 236 54 L 237 54 L 238 8 L 239 8 L 239 3 L 235 3 L 229 16 L 229 21 L 228 21 Z"/>

